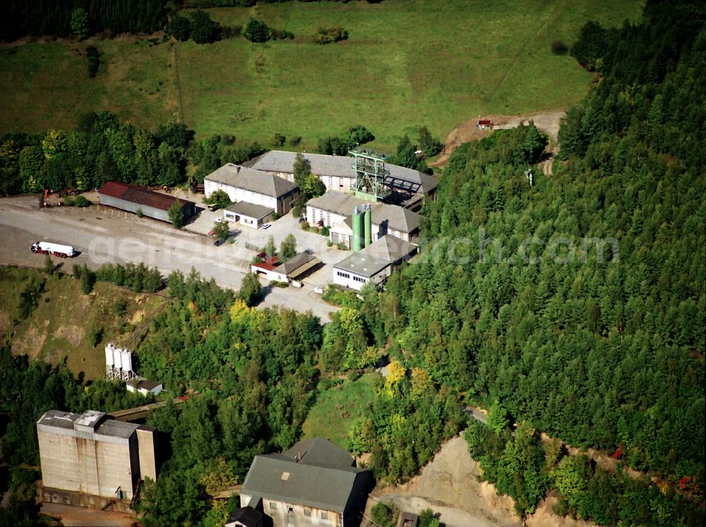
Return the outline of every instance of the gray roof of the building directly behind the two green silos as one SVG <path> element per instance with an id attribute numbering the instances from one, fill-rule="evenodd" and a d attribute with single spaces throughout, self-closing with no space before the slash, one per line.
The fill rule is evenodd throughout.
<path id="1" fill-rule="evenodd" d="M 356 198 L 352 194 L 329 190 L 318 198 L 311 198 L 311 200 L 306 202 L 306 205 L 340 214 L 340 216 L 350 216 L 353 214 L 353 207 L 360 208 L 365 203 L 369 202 Z M 388 203 L 372 203 L 371 205 L 371 221 L 374 224 L 385 224 L 389 229 L 407 233 L 419 229 L 421 216 L 417 212 L 412 212 L 397 205 L 389 205 Z"/>

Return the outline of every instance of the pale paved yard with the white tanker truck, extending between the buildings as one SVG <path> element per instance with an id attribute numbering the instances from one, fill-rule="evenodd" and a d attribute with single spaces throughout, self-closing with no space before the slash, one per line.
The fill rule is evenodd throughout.
<path id="1" fill-rule="evenodd" d="M 301 231 L 291 214 L 273 222 L 267 230 L 242 228 L 234 244 L 215 247 L 215 240 L 207 233 L 221 214 L 222 211 L 203 210 L 194 222 L 179 231 L 164 222 L 100 205 L 85 209 L 39 209 L 36 196 L 2 198 L 0 241 L 4 250 L 0 262 L 42 267 L 42 258 L 29 248 L 37 240 L 48 240 L 66 243 L 80 251 L 72 260 L 57 259 L 67 270 L 76 263 L 95 268 L 107 262 L 144 262 L 166 276 L 174 269 L 188 273 L 194 267 L 203 277 L 213 278 L 221 286 L 239 289 L 255 255 L 245 242 L 264 246 L 272 235 L 279 246 L 291 231 L 297 237 L 297 250 L 311 249 L 327 265 L 306 277 L 302 289 L 267 288 L 262 305 L 282 305 L 301 312 L 311 310 L 323 322 L 330 320 L 329 314 L 336 308 L 322 301 L 313 289 L 331 281 L 331 265 L 345 258 L 346 253 L 328 248 L 324 236 Z M 263 286 L 266 285 L 263 281 Z"/>

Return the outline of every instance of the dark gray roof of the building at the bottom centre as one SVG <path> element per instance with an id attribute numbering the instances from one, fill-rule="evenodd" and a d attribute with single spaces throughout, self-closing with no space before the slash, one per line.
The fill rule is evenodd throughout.
<path id="1" fill-rule="evenodd" d="M 282 454 L 255 456 L 241 494 L 342 513 L 355 479 L 366 472 L 351 466 L 352 461 L 323 438 L 300 441 Z"/>

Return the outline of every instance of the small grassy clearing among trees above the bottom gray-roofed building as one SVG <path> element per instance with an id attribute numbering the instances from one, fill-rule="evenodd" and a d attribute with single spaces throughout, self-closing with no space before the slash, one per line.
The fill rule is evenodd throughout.
<path id="1" fill-rule="evenodd" d="M 303 436 L 325 437 L 345 449 L 352 424 L 364 416 L 366 405 L 373 401 L 376 377 L 377 373 L 369 373 L 320 394 L 301 427 Z"/>

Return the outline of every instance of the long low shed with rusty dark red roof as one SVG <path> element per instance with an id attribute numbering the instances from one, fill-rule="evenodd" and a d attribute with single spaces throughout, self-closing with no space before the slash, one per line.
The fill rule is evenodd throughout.
<path id="1" fill-rule="evenodd" d="M 101 205 L 128 212 L 141 211 L 145 216 L 161 219 L 162 222 L 170 221 L 168 211 L 174 205 L 175 200 L 179 200 L 186 219 L 196 213 L 196 204 L 193 201 L 174 198 L 174 196 L 155 192 L 149 188 L 128 185 L 128 183 L 120 183 L 119 181 L 105 183 L 98 190 L 98 197 Z"/>

